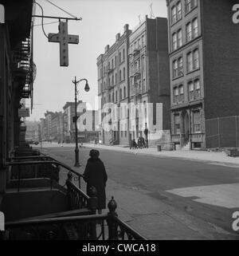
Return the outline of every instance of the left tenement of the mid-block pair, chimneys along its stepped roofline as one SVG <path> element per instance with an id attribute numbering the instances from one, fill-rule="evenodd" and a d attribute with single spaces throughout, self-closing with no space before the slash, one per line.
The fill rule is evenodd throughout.
<path id="1" fill-rule="evenodd" d="M 123 115 L 120 104 L 128 103 L 129 95 L 127 53 L 131 33 L 127 24 L 123 30 L 122 35 L 116 34 L 116 42 L 111 47 L 106 45 L 104 54 L 97 58 L 100 141 L 103 144 L 129 143 L 128 117 L 124 120 L 126 127 L 120 127 Z"/>

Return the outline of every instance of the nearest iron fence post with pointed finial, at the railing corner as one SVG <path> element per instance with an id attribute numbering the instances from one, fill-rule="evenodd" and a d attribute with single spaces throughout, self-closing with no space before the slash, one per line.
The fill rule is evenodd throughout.
<path id="1" fill-rule="evenodd" d="M 112 199 L 108 203 L 109 212 L 108 212 L 107 223 L 108 223 L 108 239 L 109 240 L 118 240 L 117 225 L 116 225 L 116 222 L 114 221 L 114 217 L 118 216 L 116 214 L 116 208 L 117 208 L 117 203 L 114 200 L 114 197 L 112 196 Z"/>

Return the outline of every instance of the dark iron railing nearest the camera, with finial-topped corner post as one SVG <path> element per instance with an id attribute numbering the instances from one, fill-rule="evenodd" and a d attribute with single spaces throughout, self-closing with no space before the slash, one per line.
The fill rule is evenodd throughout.
<path id="1" fill-rule="evenodd" d="M 116 202 L 108 214 L 29 219 L 6 223 L 4 240 L 146 240 L 116 214 Z"/>

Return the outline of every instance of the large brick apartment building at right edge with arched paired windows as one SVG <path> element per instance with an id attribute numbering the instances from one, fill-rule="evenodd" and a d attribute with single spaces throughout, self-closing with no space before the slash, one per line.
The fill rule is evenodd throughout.
<path id="1" fill-rule="evenodd" d="M 238 146 L 239 30 L 231 20 L 234 3 L 167 0 L 175 148 Z"/>

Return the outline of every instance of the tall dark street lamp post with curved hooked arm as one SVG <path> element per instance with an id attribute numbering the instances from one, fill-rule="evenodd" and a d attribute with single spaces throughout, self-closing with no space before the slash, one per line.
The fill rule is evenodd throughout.
<path id="1" fill-rule="evenodd" d="M 85 92 L 88 92 L 89 91 L 89 86 L 88 86 L 88 80 L 83 78 L 83 79 L 80 79 L 79 81 L 76 81 L 76 77 L 75 77 L 75 80 L 72 81 L 72 83 L 75 85 L 75 116 L 74 116 L 74 122 L 75 122 L 75 140 L 76 140 L 76 148 L 75 148 L 75 167 L 80 167 L 80 163 L 79 163 L 79 147 L 78 147 L 78 128 L 77 128 L 77 119 L 78 119 L 78 116 L 77 116 L 77 84 L 80 82 L 80 81 L 85 81 L 85 86 L 84 86 L 84 90 Z"/>

